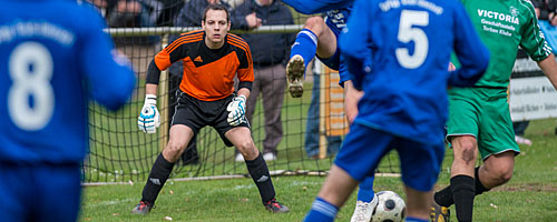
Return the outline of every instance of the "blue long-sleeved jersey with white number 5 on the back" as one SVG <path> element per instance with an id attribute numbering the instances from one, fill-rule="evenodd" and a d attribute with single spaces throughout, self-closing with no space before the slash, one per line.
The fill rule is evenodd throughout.
<path id="1" fill-rule="evenodd" d="M 354 122 L 424 143 L 443 137 L 448 84 L 473 85 L 489 62 L 453 0 L 356 1 L 340 47 L 365 92 Z M 449 72 L 452 50 L 466 64 Z M 372 65 L 363 69 L 367 51 Z"/>

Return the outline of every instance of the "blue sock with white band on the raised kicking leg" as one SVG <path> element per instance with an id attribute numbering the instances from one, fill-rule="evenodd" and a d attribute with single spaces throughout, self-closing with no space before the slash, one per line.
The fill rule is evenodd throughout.
<path id="1" fill-rule="evenodd" d="M 305 67 L 307 67 L 307 63 L 315 57 L 316 51 L 317 36 L 309 29 L 302 29 L 302 31 L 297 32 L 296 41 L 292 44 L 290 58 L 294 57 L 294 54 L 300 54 L 304 58 Z"/>

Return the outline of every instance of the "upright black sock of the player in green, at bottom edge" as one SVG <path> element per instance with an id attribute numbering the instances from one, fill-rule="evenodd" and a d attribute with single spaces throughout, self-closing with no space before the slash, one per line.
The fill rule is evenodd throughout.
<path id="1" fill-rule="evenodd" d="M 476 195 L 473 178 L 469 175 L 457 175 L 451 178 L 451 188 L 458 221 L 472 221 L 473 198 Z"/>

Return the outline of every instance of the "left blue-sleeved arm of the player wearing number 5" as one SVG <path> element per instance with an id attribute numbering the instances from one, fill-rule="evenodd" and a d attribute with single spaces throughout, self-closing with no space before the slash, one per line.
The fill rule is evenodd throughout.
<path id="1" fill-rule="evenodd" d="M 339 47 L 342 49 L 344 63 L 348 67 L 352 85 L 360 90 L 365 75 L 365 59 L 371 56 L 370 22 L 372 21 L 371 1 L 356 1 L 344 33 L 340 36 Z"/>

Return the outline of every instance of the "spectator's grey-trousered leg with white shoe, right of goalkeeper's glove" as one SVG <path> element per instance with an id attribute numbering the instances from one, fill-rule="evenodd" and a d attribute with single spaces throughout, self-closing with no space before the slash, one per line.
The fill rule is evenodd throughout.
<path id="1" fill-rule="evenodd" d="M 263 140 L 263 159 L 276 160 L 276 148 L 283 138 L 281 112 L 284 101 L 286 77 L 284 65 L 275 64 L 262 70 L 260 81 L 265 114 L 265 139 Z"/>

